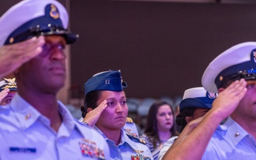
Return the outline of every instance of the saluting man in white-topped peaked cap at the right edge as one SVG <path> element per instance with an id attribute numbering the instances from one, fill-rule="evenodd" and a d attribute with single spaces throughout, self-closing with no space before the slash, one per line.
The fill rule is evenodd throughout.
<path id="1" fill-rule="evenodd" d="M 240 43 L 208 65 L 202 85 L 218 91 L 218 98 L 212 110 L 183 129 L 163 159 L 256 159 L 255 53 L 256 42 Z"/>

